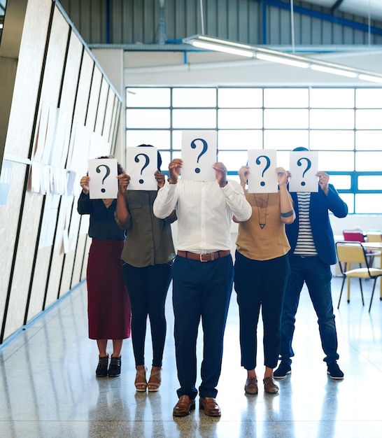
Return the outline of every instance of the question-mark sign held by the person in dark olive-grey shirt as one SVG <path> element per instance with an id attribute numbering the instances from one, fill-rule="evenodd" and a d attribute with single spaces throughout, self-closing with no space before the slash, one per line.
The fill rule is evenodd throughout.
<path id="1" fill-rule="evenodd" d="M 140 146 L 126 149 L 126 173 L 130 182 L 127 190 L 157 190 L 155 172 L 158 170 L 157 148 Z"/>

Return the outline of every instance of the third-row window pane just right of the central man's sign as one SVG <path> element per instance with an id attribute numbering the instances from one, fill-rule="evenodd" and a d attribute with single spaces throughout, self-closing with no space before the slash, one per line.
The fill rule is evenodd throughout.
<path id="1" fill-rule="evenodd" d="M 262 131 L 222 130 L 218 131 L 218 148 L 225 149 L 262 149 Z"/>

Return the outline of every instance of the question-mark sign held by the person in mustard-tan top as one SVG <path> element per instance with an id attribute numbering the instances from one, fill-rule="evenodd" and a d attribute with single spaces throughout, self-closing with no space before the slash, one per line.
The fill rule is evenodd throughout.
<path id="1" fill-rule="evenodd" d="M 276 150 L 248 150 L 248 193 L 276 193 Z"/>

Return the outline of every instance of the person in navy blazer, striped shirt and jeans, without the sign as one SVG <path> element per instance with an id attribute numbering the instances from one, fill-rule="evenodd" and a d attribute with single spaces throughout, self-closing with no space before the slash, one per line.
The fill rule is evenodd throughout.
<path id="1" fill-rule="evenodd" d="M 295 148 L 295 151 L 306 148 Z M 292 192 L 297 206 L 297 220 L 286 227 L 290 246 L 289 262 L 291 275 L 285 290 L 283 315 L 281 318 L 281 363 L 274 372 L 276 379 L 283 379 L 291 372 L 291 358 L 295 355 L 292 339 L 295 332 L 295 316 L 299 296 L 304 283 L 309 290 L 311 302 L 318 318 L 321 346 L 325 353 L 324 362 L 331 379 L 344 379 L 337 360 L 337 329 L 332 302 L 331 264 L 337 262 L 334 236 L 330 225 L 329 211 L 336 218 L 345 218 L 348 206 L 339 197 L 330 176 L 317 172 L 316 192 Z M 293 175 L 290 176 L 293 178 Z"/>

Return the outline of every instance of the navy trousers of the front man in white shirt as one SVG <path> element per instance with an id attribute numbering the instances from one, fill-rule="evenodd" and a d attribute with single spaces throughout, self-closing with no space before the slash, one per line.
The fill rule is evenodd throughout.
<path id="1" fill-rule="evenodd" d="M 232 256 L 199 262 L 176 256 L 173 265 L 176 367 L 181 388 L 178 397 L 197 396 L 197 333 L 203 328 L 200 397 L 216 397 L 223 336 L 232 293 Z"/>

